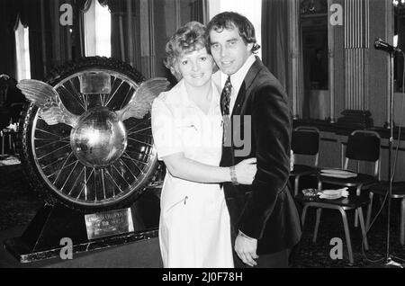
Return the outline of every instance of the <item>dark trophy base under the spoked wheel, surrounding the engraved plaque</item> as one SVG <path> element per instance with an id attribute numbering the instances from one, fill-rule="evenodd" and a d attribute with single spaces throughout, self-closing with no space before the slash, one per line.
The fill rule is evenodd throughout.
<path id="1" fill-rule="evenodd" d="M 113 246 L 121 246 L 158 236 L 159 199 L 153 192 L 145 192 L 130 208 L 133 232 L 88 239 L 85 214 L 67 207 L 44 205 L 21 237 L 4 241 L 5 249 L 20 263 L 61 257 L 67 253 L 86 253 Z M 64 238 L 70 239 L 70 246 Z"/>

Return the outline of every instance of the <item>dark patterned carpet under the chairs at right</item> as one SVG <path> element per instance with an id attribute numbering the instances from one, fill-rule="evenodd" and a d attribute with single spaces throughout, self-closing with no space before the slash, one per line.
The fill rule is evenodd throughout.
<path id="1" fill-rule="evenodd" d="M 400 244 L 399 205 L 392 203 L 392 228 L 390 254 L 405 258 L 405 247 Z M 315 227 L 315 210 L 307 212 L 307 219 L 303 228 L 302 240 L 294 250 L 292 266 L 295 268 L 363 268 L 379 267 L 382 262 L 372 262 L 384 258 L 386 255 L 386 217 L 379 218 L 370 229 L 368 237 L 369 250 L 362 250 L 362 236 L 360 227 L 354 227 L 354 212 L 349 213 L 348 223 L 354 253 L 355 264 L 350 265 L 347 253 L 345 232 L 340 214 L 337 210 L 322 210 L 320 229 L 316 243 L 312 243 Z M 332 238 L 338 237 L 343 242 L 343 259 L 333 260 L 330 252 L 336 244 L 330 244 Z"/>

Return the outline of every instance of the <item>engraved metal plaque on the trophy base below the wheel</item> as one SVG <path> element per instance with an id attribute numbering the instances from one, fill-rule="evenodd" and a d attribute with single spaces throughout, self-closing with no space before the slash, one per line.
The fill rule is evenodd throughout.
<path id="1" fill-rule="evenodd" d="M 85 215 L 85 228 L 89 240 L 133 232 L 130 208 L 87 214 Z"/>

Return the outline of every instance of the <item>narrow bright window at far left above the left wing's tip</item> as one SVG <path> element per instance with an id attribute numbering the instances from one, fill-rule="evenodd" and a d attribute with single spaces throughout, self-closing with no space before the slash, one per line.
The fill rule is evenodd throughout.
<path id="1" fill-rule="evenodd" d="M 20 20 L 18 20 L 18 27 L 15 30 L 15 47 L 17 54 L 17 81 L 31 78 L 28 27 L 24 28 Z"/>

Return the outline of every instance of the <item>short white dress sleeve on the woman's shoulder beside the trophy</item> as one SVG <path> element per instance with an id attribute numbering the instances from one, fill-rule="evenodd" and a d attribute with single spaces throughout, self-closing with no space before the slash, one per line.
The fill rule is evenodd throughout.
<path id="1" fill-rule="evenodd" d="M 152 103 L 152 134 L 158 160 L 184 151 L 181 132 L 175 127 L 174 114 L 159 98 Z"/>

